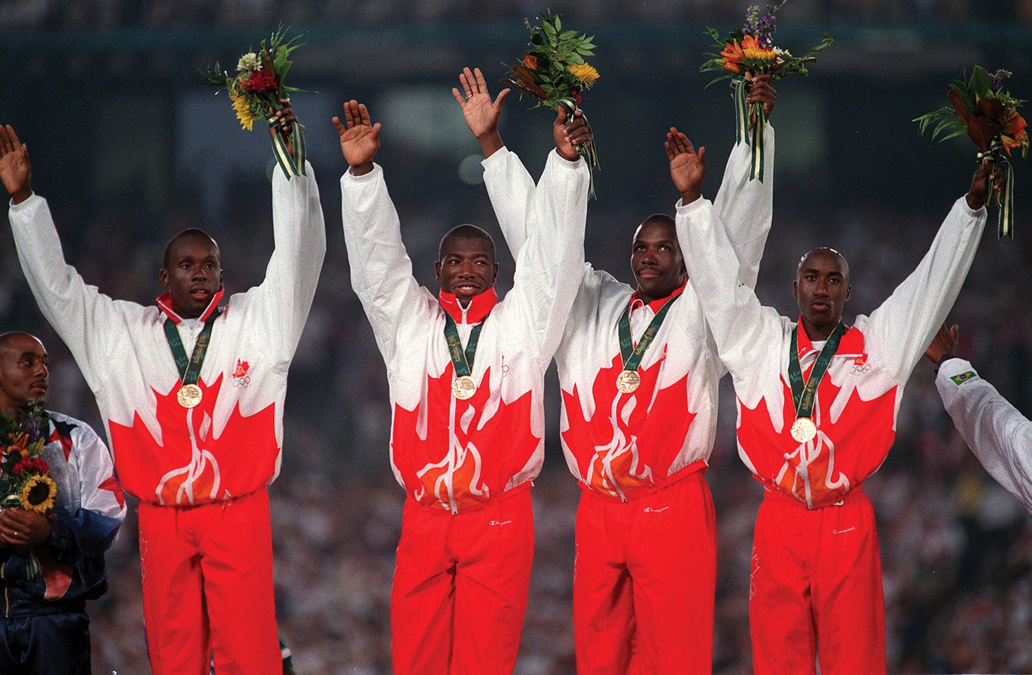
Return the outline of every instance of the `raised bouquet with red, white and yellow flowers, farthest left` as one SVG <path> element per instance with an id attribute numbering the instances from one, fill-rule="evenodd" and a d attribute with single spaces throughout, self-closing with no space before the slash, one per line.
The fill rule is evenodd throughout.
<path id="1" fill-rule="evenodd" d="M 289 29 L 280 26 L 268 38 L 267 44 L 262 40 L 258 52 L 248 52 L 241 56 L 236 62 L 236 72 L 231 75 L 225 70 L 220 70 L 218 61 L 215 63 L 215 68 L 200 71 L 208 86 L 218 87 L 229 93 L 229 100 L 233 103 L 233 110 L 241 129 L 251 131 L 255 120 L 265 120 L 270 127 L 275 126 L 276 118 L 271 112 L 283 107 L 280 99 L 287 98 L 291 92 L 302 91 L 284 84 L 287 71 L 293 64 L 290 55 L 305 44 L 298 41 L 299 36 L 287 39 L 287 30 Z M 299 126 L 294 124 L 290 132 L 290 142 L 294 147 L 296 157 L 291 157 L 287 152 L 286 140 L 282 134 L 272 134 L 276 159 L 288 179 L 304 173 L 304 135 Z"/>

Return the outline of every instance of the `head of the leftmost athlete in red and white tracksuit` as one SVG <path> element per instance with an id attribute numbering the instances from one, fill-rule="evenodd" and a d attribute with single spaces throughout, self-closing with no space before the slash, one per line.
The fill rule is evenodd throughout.
<path id="1" fill-rule="evenodd" d="M 200 230 L 178 234 L 165 249 L 159 277 L 175 313 L 187 319 L 199 317 L 222 288 L 218 245 Z"/>

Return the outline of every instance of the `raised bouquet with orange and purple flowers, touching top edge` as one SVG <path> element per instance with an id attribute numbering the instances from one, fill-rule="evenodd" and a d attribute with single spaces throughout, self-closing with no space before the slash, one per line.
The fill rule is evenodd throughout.
<path id="1" fill-rule="evenodd" d="M 767 116 L 764 106 L 753 103 L 746 106 L 745 99 L 751 83 L 745 78 L 745 73 L 752 75 L 770 74 L 774 79 L 780 79 L 792 73 L 801 75 L 807 74 L 806 64 L 814 63 L 817 54 L 828 49 L 832 43 L 832 37 L 825 33 L 820 42 L 809 51 L 804 57 L 794 57 L 787 50 L 774 46 L 774 30 L 776 28 L 775 12 L 784 6 L 788 0 L 781 0 L 781 3 L 767 5 L 767 13 L 760 14 L 760 5 L 752 5 L 745 13 L 745 24 L 742 28 L 736 28 L 725 37 L 713 28 L 708 28 L 709 36 L 713 38 L 714 49 L 719 53 L 707 53 L 710 57 L 703 63 L 700 72 L 709 70 L 720 71 L 709 82 L 709 85 L 720 81 L 731 79 L 731 88 L 735 96 L 735 142 L 745 141 L 752 148 L 752 164 L 749 179 L 760 179 L 763 181 L 763 159 L 764 159 L 764 126 L 767 124 Z M 751 129 L 751 142 L 749 130 Z"/>

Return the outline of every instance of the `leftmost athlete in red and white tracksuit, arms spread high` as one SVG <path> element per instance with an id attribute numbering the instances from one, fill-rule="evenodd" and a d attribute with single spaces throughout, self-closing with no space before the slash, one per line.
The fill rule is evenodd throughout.
<path id="1" fill-rule="evenodd" d="M 296 120 L 289 106 L 281 115 Z M 184 408 L 165 324 L 192 354 L 222 297 L 218 247 L 200 230 L 174 237 L 161 272 L 169 292 L 156 307 L 101 294 L 65 263 L 46 201 L 29 196 L 28 156 L 7 131 L 5 154 L 24 162 L 21 183 L 3 175 L 22 268 L 97 397 L 119 480 L 140 501 L 152 670 L 206 673 L 214 650 L 220 673 L 282 672 L 265 487 L 280 471 L 287 369 L 326 247 L 311 166 L 289 181 L 275 171 L 265 281 L 214 320 L 202 398 Z"/>

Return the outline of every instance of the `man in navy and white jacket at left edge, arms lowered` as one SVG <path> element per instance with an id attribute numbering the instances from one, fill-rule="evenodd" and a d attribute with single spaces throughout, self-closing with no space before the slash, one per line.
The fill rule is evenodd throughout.
<path id="1" fill-rule="evenodd" d="M 44 404 L 49 365 L 36 336 L 0 334 L 0 414 L 22 422 L 33 404 Z M 23 460 L 14 473 L 45 472 L 58 489 L 50 515 L 0 510 L 0 673 L 90 675 L 86 601 L 107 590 L 104 552 L 125 520 L 125 497 L 104 442 L 86 423 L 45 410 L 41 427 L 29 433 L 30 443 L 45 440 L 45 467 Z M 36 573 L 26 547 L 39 561 Z"/>

